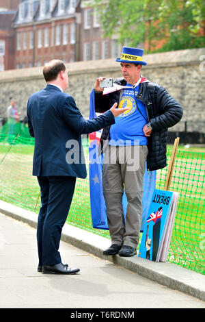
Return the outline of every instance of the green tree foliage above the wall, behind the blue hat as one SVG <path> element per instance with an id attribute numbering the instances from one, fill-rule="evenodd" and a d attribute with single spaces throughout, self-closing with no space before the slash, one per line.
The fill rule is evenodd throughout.
<path id="1" fill-rule="evenodd" d="M 148 52 L 205 46 L 204 0 L 94 0 L 104 36 Z M 161 44 L 161 45 L 159 45 Z"/>

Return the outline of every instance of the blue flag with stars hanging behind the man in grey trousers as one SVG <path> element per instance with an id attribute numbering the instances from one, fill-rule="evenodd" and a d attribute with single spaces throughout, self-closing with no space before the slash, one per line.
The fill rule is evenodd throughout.
<path id="1" fill-rule="evenodd" d="M 90 119 L 96 117 L 94 109 L 94 90 L 90 94 Z M 100 131 L 89 134 L 89 175 L 90 175 L 90 210 L 92 216 L 92 226 L 100 230 L 108 230 L 107 213 L 105 199 L 102 193 L 102 162 L 103 154 L 98 156 L 98 145 L 100 142 Z M 145 171 L 143 177 L 143 216 L 141 222 L 141 232 L 146 223 L 146 216 L 152 198 L 152 193 L 156 185 L 156 171 Z M 127 199 L 124 193 L 122 197 L 122 206 L 126 220 Z"/>

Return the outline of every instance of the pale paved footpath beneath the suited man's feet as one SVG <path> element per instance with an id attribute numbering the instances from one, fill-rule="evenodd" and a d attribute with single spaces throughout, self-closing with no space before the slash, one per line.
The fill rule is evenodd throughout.
<path id="1" fill-rule="evenodd" d="M 205 302 L 61 241 L 77 275 L 37 272 L 36 228 L 0 213 L 0 308 L 205 308 Z"/>

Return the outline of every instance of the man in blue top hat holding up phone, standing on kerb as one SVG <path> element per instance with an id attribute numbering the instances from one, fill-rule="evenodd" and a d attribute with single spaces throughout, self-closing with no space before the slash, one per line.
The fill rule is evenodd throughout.
<path id="1" fill-rule="evenodd" d="M 100 138 L 100 153 L 105 153 L 102 188 L 107 209 L 111 246 L 104 255 L 134 256 L 137 253 L 142 219 L 143 174 L 167 165 L 167 129 L 182 118 L 180 103 L 159 84 L 141 75 L 143 49 L 123 47 L 120 58 L 122 77 L 114 90 L 105 94 L 96 79 L 95 110 L 105 112 L 118 103 L 128 108 L 105 127 Z M 116 88 L 115 88 L 116 87 Z M 122 195 L 126 193 L 126 220 Z"/>

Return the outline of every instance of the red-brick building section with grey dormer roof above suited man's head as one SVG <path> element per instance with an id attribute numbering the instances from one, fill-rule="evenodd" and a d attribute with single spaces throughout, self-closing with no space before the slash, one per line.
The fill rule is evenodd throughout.
<path id="1" fill-rule="evenodd" d="M 42 66 L 58 58 L 75 60 L 75 0 L 29 0 L 18 7 L 13 27 L 16 34 L 16 68 Z"/>

